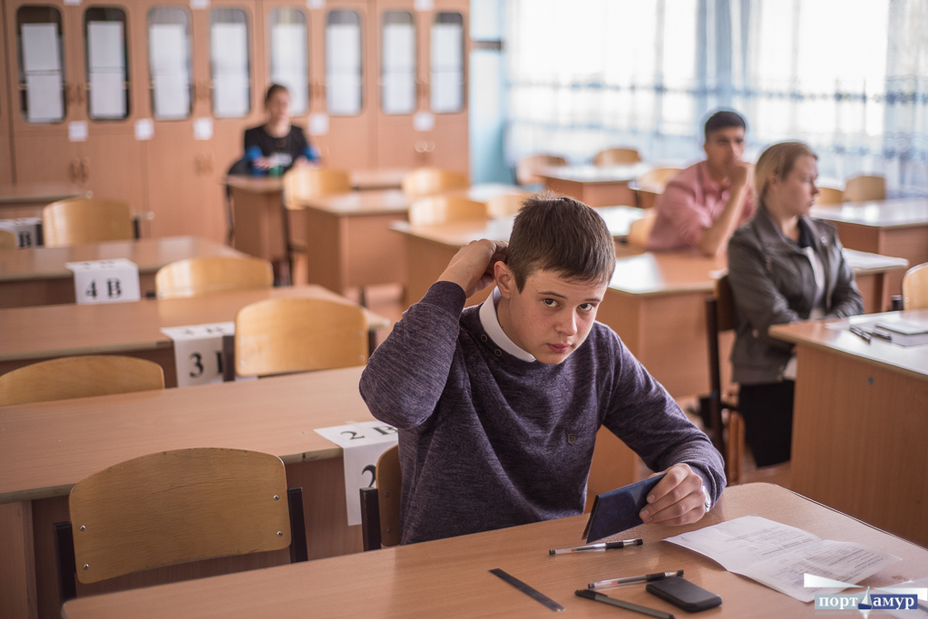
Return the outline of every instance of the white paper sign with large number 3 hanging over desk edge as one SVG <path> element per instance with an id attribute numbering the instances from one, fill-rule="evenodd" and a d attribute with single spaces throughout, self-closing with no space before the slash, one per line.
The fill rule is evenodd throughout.
<path id="1" fill-rule="evenodd" d="M 167 327 L 161 333 L 174 340 L 177 386 L 223 382 L 223 335 L 235 335 L 235 322 Z"/>

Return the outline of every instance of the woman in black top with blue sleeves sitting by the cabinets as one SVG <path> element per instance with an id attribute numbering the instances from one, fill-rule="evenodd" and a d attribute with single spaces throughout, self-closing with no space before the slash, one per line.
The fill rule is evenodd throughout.
<path id="1" fill-rule="evenodd" d="M 253 174 L 279 175 L 293 166 L 319 163 L 303 130 L 290 124 L 290 93 L 273 84 L 264 96 L 267 122 L 245 132 L 245 160 Z"/>

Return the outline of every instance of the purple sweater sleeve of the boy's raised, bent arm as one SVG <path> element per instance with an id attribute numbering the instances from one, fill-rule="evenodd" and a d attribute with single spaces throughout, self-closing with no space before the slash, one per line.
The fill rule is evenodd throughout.
<path id="1" fill-rule="evenodd" d="M 458 284 L 432 284 L 393 325 L 361 374 L 361 397 L 374 417 L 398 428 L 429 419 L 445 390 L 464 301 Z"/>

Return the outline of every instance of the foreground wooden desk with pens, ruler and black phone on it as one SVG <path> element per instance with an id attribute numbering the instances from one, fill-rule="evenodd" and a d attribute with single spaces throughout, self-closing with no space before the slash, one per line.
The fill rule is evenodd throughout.
<path id="1" fill-rule="evenodd" d="M 570 616 L 641 616 L 581 600 L 574 596 L 574 590 L 586 588 L 586 583 L 593 580 L 678 568 L 686 571 L 688 580 L 724 600 L 707 616 L 781 619 L 822 614 L 812 604 L 731 574 L 702 555 L 659 543 L 664 537 L 751 513 L 798 526 L 825 539 L 867 544 L 902 559 L 862 581 L 865 586 L 889 586 L 920 577 L 928 566 L 928 550 L 779 486 L 749 484 L 728 488 L 715 509 L 697 524 L 643 524 L 625 532 L 624 537 L 644 539 L 644 545 L 616 550 L 621 556 L 610 552 L 548 556 L 548 549 L 574 546 L 580 541 L 585 519 L 576 516 L 361 555 L 71 600 L 65 604 L 62 616 L 303 617 L 307 609 L 319 616 L 551 616 L 544 606 L 488 574 L 497 567 L 560 602 Z M 677 617 L 684 615 L 641 585 L 606 593 Z"/>

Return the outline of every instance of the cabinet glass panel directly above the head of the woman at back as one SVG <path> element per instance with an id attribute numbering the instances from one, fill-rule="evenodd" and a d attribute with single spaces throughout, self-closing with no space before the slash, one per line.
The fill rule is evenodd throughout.
<path id="1" fill-rule="evenodd" d="M 287 86 L 290 113 L 303 116 L 309 110 L 306 15 L 299 8 L 275 8 L 268 16 L 267 32 L 271 82 Z"/>

